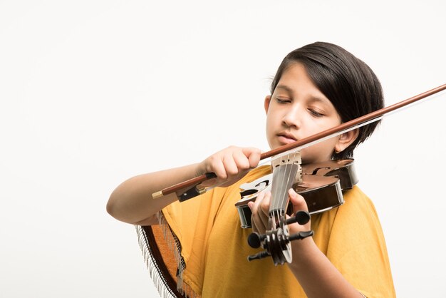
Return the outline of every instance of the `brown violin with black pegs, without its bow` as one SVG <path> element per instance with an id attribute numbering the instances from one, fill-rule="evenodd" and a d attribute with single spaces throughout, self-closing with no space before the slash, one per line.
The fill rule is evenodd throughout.
<path id="1" fill-rule="evenodd" d="M 257 187 L 257 189 L 243 189 L 241 195 L 247 195 L 235 204 L 244 228 L 251 227 L 251 210 L 247 207 L 248 202 L 255 200 L 260 192 L 269 189 L 271 189 L 272 197 L 269 207 L 270 229 L 264 235 L 254 232 L 248 237 L 249 246 L 253 248 L 262 246 L 265 250 L 256 255 L 250 255 L 248 260 L 271 256 L 275 265 L 291 262 L 290 242 L 309 237 L 313 235 L 313 231 L 289 235 L 287 226 L 294 222 L 304 225 L 310 220 L 311 214 L 342 205 L 344 202 L 342 191 L 358 183 L 353 165 L 353 159 L 328 160 L 323 163 L 301 165 L 300 153 L 291 153 L 271 161 L 272 176 L 266 175 L 252 183 L 241 185 L 241 188 Z M 278 181 L 278 183 L 273 183 L 273 181 Z M 304 197 L 308 212 L 299 211 L 294 217 L 287 218 L 286 214 L 292 215 L 294 212 L 289 204 L 287 192 L 291 187 Z"/>

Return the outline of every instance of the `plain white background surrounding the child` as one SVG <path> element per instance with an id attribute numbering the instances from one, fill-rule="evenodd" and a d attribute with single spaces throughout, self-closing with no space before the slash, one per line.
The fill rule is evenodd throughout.
<path id="1" fill-rule="evenodd" d="M 281 59 L 338 43 L 387 105 L 446 83 L 445 1 L 0 1 L 0 297 L 153 297 L 135 228 L 105 212 L 140 173 L 269 150 Z M 356 152 L 398 297 L 444 297 L 446 96 Z M 363 268 L 367 270 L 367 268 Z"/>

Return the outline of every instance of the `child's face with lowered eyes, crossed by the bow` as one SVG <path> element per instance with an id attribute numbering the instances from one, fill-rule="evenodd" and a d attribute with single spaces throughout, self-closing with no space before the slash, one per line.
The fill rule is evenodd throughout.
<path id="1" fill-rule="evenodd" d="M 333 104 L 316 88 L 301 63 L 284 71 L 272 96 L 265 98 L 265 110 L 266 138 L 272 149 L 341 124 Z M 338 136 L 301 150 L 303 162 L 330 160 L 333 150 L 346 148 L 342 139 Z"/>

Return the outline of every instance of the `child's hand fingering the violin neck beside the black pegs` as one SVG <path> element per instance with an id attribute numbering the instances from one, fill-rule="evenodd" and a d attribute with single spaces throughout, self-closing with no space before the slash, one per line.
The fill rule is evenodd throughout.
<path id="1" fill-rule="evenodd" d="M 298 211 L 308 212 L 308 207 L 304 200 L 304 197 L 298 195 L 292 188 L 288 191 L 289 200 L 293 205 L 294 214 Z M 269 229 L 269 204 L 271 202 L 271 192 L 261 192 L 255 202 L 249 202 L 248 207 L 251 209 L 251 224 L 252 231 L 264 234 Z M 288 215 L 287 215 L 288 217 Z M 307 222 L 305 225 L 299 225 L 297 222 L 288 225 L 290 234 L 295 234 L 301 231 L 311 230 L 311 222 Z"/>

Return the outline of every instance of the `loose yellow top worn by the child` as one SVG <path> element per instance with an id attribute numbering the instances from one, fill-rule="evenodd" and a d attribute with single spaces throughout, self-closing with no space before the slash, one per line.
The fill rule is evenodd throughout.
<path id="1" fill-rule="evenodd" d="M 217 187 L 162 212 L 180 240 L 185 282 L 207 297 L 306 297 L 286 265 L 271 258 L 247 261 L 251 229 L 240 227 L 239 185 L 269 173 L 252 170 L 230 187 Z M 388 253 L 373 203 L 358 187 L 344 193 L 341 207 L 311 217 L 313 240 L 343 276 L 366 297 L 395 297 Z M 299 241 L 299 240 L 296 240 Z"/>

